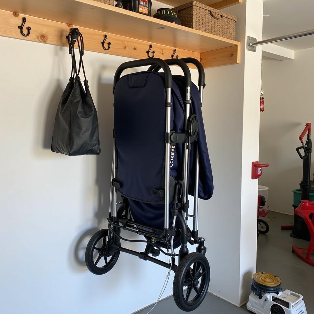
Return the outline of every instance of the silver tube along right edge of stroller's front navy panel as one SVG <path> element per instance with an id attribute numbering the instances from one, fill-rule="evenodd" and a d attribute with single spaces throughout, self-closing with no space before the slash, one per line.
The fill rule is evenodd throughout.
<path id="1" fill-rule="evenodd" d="M 167 88 L 166 97 L 166 133 L 170 133 L 170 118 L 171 118 L 171 88 Z M 166 143 L 165 151 L 165 229 L 169 229 L 169 180 L 170 180 L 170 143 Z"/>

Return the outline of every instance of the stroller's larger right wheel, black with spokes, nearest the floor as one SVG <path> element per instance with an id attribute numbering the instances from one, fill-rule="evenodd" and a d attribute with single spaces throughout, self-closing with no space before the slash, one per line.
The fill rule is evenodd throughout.
<path id="1" fill-rule="evenodd" d="M 186 312 L 195 310 L 206 296 L 209 280 L 210 268 L 207 258 L 198 252 L 185 256 L 179 263 L 173 280 L 176 305 Z"/>

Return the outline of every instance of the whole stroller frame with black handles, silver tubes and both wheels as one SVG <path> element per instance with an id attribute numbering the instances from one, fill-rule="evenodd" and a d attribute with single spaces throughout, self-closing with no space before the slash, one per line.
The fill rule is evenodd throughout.
<path id="1" fill-rule="evenodd" d="M 123 198 L 123 202 L 117 202 L 117 189 L 120 188 L 120 183 L 116 181 L 117 173 L 117 156 L 116 156 L 116 141 L 115 132 L 113 130 L 113 158 L 111 168 L 111 190 L 110 190 L 110 207 L 108 217 L 108 230 L 99 230 L 90 239 L 86 252 L 85 261 L 86 265 L 92 273 L 104 274 L 107 273 L 116 263 L 120 252 L 125 252 L 139 257 L 145 261 L 150 261 L 170 270 L 173 270 L 175 274 L 173 282 L 173 295 L 175 302 L 181 310 L 192 311 L 197 308 L 203 301 L 210 279 L 209 263 L 205 257 L 206 247 L 204 246 L 205 239 L 198 236 L 198 180 L 199 180 L 199 154 L 198 148 L 195 150 L 195 186 L 194 186 L 194 202 L 193 202 L 193 215 L 188 214 L 189 201 L 189 171 L 190 171 L 190 152 L 191 144 L 198 140 L 198 117 L 193 114 L 190 115 L 191 105 L 191 73 L 187 66 L 187 63 L 191 63 L 198 69 L 198 87 L 199 94 L 202 102 L 203 88 L 205 87 L 204 78 L 205 73 L 201 63 L 194 58 L 183 59 L 168 59 L 162 60 L 159 58 L 150 58 L 125 62 L 121 64 L 115 73 L 113 83 L 113 93 L 115 91 L 116 84 L 120 79 L 122 72 L 129 68 L 149 66 L 148 71 L 158 72 L 159 69 L 163 69 L 165 75 L 165 165 L 164 176 L 165 185 L 162 195 L 165 201 L 164 209 L 164 228 L 158 229 L 142 223 L 138 223 L 133 220 L 132 216 L 129 216 L 129 204 L 127 198 Z M 185 116 L 184 116 L 184 132 L 179 133 L 171 131 L 171 89 L 172 89 L 172 74 L 169 65 L 179 66 L 184 73 L 185 78 Z M 184 143 L 183 148 L 183 166 L 182 166 L 182 178 L 183 180 L 176 180 L 175 192 L 173 196 L 173 207 L 171 214 L 173 216 L 173 223 L 169 224 L 170 214 L 170 149 L 171 145 L 176 143 Z M 117 208 L 117 206 L 119 208 Z M 187 225 L 188 218 L 193 218 L 193 229 Z M 176 225 L 177 223 L 177 225 Z M 176 228 L 176 227 L 179 228 Z M 121 229 L 137 233 L 146 237 L 145 240 L 130 240 L 120 236 Z M 174 253 L 173 240 L 174 236 L 180 236 L 180 250 L 178 254 Z M 102 245 L 97 245 L 103 238 Z M 106 240 L 106 238 L 108 238 Z M 150 240 L 147 238 L 151 238 Z M 122 247 L 120 240 L 130 242 L 144 242 L 146 248 L 144 252 L 137 252 L 125 247 Z M 171 244 L 169 243 L 171 241 Z M 187 243 L 192 245 L 198 244 L 196 252 L 190 253 L 187 248 Z M 165 252 L 160 246 L 170 248 L 171 253 Z M 98 251 L 99 257 L 94 262 L 94 250 Z M 171 263 L 160 261 L 157 257 L 160 252 L 171 257 Z M 151 254 L 152 256 L 149 256 Z M 96 267 L 101 257 L 105 259 L 105 266 L 102 268 Z M 178 264 L 175 264 L 175 257 L 178 256 Z M 111 257 L 110 262 L 107 262 L 107 257 Z M 169 260 L 170 261 L 170 260 Z M 192 267 L 193 266 L 193 267 Z M 188 282 L 187 282 L 188 280 Z M 182 288 L 187 286 L 186 295 L 183 294 Z M 191 291 L 193 289 L 196 292 L 196 296 L 189 300 Z M 184 290 L 184 289 L 183 289 Z"/>

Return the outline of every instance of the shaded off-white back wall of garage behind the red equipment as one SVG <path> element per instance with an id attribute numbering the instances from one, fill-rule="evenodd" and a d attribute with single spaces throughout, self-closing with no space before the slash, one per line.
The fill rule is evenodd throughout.
<path id="1" fill-rule="evenodd" d="M 259 184 L 269 187 L 270 209 L 287 214 L 293 214 L 292 190 L 302 180 L 303 162 L 295 148 L 301 145 L 298 138 L 306 122 L 314 123 L 313 55 L 310 48 L 295 51 L 294 60 L 263 60 L 259 159 L 270 165 Z"/>

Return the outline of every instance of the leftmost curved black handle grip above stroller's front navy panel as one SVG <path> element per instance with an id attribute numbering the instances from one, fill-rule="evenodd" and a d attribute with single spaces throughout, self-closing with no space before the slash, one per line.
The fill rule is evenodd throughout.
<path id="1" fill-rule="evenodd" d="M 165 88 L 172 88 L 172 75 L 168 64 L 160 58 L 150 58 L 150 59 L 140 59 L 134 61 L 128 61 L 122 63 L 116 70 L 115 76 L 113 78 L 113 89 L 115 89 L 116 84 L 122 74 L 122 72 L 129 68 L 145 67 L 148 65 L 154 65 L 154 67 L 159 66 L 165 72 Z"/>

